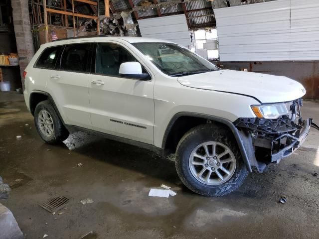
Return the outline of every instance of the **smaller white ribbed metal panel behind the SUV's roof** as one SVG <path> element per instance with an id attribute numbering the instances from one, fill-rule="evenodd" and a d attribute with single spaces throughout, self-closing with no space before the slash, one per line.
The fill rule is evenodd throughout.
<path id="1" fill-rule="evenodd" d="M 172 41 L 190 46 L 190 35 L 184 14 L 138 20 L 142 37 Z"/>

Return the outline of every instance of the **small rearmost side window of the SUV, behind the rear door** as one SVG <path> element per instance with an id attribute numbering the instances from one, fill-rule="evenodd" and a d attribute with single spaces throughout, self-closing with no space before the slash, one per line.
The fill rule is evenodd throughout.
<path id="1" fill-rule="evenodd" d="M 63 46 L 54 46 L 46 48 L 40 55 L 35 67 L 52 69 L 59 57 L 60 50 Z"/>

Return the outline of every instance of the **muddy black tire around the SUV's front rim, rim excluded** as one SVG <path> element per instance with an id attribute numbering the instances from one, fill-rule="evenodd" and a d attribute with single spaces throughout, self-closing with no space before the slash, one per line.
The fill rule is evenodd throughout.
<path id="1" fill-rule="evenodd" d="M 192 151 L 201 143 L 208 141 L 215 141 L 226 145 L 232 151 L 236 160 L 233 175 L 228 181 L 220 185 L 207 185 L 200 182 L 193 176 L 189 166 L 189 158 Z M 198 125 L 185 133 L 177 145 L 175 166 L 183 184 L 194 193 L 205 196 L 224 196 L 229 194 L 240 187 L 248 175 L 232 132 L 223 126 L 214 124 Z"/>

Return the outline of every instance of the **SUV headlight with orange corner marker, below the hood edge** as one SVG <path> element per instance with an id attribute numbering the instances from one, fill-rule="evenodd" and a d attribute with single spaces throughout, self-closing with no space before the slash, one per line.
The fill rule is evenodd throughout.
<path id="1" fill-rule="evenodd" d="M 257 118 L 277 119 L 280 116 L 288 115 L 289 110 L 284 103 L 276 105 L 251 106 Z"/>

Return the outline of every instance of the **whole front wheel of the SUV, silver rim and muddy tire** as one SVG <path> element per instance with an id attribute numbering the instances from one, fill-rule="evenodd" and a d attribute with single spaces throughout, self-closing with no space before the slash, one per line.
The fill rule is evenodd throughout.
<path id="1" fill-rule="evenodd" d="M 199 125 L 179 141 L 175 166 L 184 185 L 206 196 L 223 196 L 247 177 L 232 133 L 214 124 Z"/>

